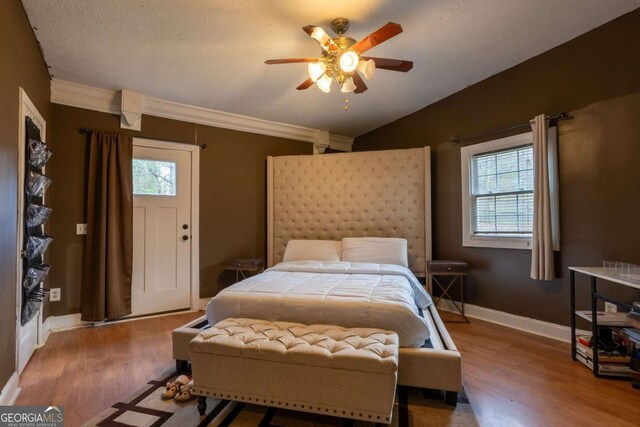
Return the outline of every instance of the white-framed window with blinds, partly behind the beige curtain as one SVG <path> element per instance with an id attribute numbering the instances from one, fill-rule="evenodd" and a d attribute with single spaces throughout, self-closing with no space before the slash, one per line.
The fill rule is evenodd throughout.
<path id="1" fill-rule="evenodd" d="M 556 128 L 549 129 L 554 247 L 557 239 Z M 533 229 L 531 132 L 463 147 L 463 246 L 527 249 Z"/>

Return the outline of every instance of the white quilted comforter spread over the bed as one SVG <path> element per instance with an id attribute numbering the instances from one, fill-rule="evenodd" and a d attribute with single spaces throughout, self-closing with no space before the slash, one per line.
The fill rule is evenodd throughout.
<path id="1" fill-rule="evenodd" d="M 210 324 L 228 317 L 370 327 L 398 333 L 401 347 L 429 338 L 418 307 L 431 298 L 404 267 L 356 262 L 283 262 L 221 291 Z"/>

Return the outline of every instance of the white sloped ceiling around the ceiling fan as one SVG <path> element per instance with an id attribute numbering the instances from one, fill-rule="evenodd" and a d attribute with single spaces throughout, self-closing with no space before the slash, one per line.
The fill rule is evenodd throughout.
<path id="1" fill-rule="evenodd" d="M 640 0 L 23 0 L 51 74 L 103 89 L 357 136 L 417 111 L 640 6 Z M 318 56 L 301 30 L 351 20 L 359 40 L 389 21 L 404 32 L 368 52 L 413 60 L 345 96 L 295 87 Z"/>

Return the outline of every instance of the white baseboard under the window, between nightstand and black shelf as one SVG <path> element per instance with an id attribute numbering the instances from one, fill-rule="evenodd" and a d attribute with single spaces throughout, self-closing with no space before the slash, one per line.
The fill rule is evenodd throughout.
<path id="1" fill-rule="evenodd" d="M 460 305 L 460 302 L 456 301 Z M 444 311 L 458 313 L 451 300 L 441 299 L 438 308 Z M 571 328 L 556 323 L 544 322 L 542 320 L 531 319 L 529 317 L 518 316 L 504 311 L 493 310 L 491 308 L 480 307 L 479 305 L 465 304 L 464 314 L 467 317 L 484 320 L 530 334 L 540 335 L 554 340 L 570 343 Z M 590 335 L 588 331 L 577 330 L 580 334 Z"/>

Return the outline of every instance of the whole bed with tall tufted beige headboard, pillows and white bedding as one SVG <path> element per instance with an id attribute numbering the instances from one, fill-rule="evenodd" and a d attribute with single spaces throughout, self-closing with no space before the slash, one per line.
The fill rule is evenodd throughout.
<path id="1" fill-rule="evenodd" d="M 429 148 L 269 157 L 267 180 L 268 269 L 220 292 L 206 316 L 175 330 L 174 358 L 188 360 L 201 328 L 230 316 L 395 328 L 398 384 L 444 390 L 455 404 L 460 353 L 417 280 L 431 258 Z M 363 295 L 367 280 L 383 283 L 373 301 Z M 389 289 L 402 289 L 404 299 L 387 304 Z M 332 299 L 318 309 L 318 301 Z M 396 316 L 387 313 L 401 320 L 382 322 Z"/>

